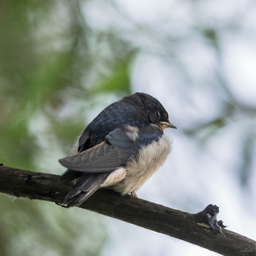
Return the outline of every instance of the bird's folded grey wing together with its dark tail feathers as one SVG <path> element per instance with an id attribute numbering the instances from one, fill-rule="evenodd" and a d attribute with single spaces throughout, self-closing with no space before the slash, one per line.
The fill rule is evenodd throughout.
<path id="1" fill-rule="evenodd" d="M 90 197 L 111 172 L 125 166 L 138 148 L 135 146 L 136 129 L 117 128 L 110 132 L 105 141 L 70 157 L 59 159 L 68 170 L 60 177 L 61 181 L 78 178 L 75 186 L 65 197 L 64 204 L 80 206 Z M 131 134 L 133 132 L 133 134 Z"/>

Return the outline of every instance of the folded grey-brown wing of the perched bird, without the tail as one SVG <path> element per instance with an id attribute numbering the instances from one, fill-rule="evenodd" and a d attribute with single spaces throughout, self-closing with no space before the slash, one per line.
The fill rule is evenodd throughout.
<path id="1" fill-rule="evenodd" d="M 135 152 L 135 141 L 127 136 L 125 129 L 117 128 L 105 137 L 104 142 L 81 153 L 59 159 L 59 162 L 76 172 L 108 173 L 126 165 Z"/>

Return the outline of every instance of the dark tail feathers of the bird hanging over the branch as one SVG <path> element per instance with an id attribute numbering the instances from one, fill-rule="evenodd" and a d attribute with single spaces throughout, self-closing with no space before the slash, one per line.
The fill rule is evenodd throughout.
<path id="1" fill-rule="evenodd" d="M 80 206 L 99 189 L 108 175 L 109 173 L 83 173 L 65 197 L 63 204 L 67 206 Z"/>

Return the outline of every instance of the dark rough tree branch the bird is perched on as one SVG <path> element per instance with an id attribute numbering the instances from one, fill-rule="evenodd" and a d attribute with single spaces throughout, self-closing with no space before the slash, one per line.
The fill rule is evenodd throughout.
<path id="1" fill-rule="evenodd" d="M 0 192 L 8 195 L 61 203 L 71 186 L 71 182 L 59 182 L 57 175 L 0 166 Z M 107 189 L 97 191 L 80 208 L 173 236 L 221 255 L 256 255 L 256 242 L 252 239 L 230 230 L 215 234 L 208 225 L 207 208 L 198 214 L 189 214 L 129 195 L 121 197 Z"/>

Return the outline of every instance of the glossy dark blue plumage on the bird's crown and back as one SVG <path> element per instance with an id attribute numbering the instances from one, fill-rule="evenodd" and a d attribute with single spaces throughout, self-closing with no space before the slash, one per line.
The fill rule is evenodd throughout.
<path id="1" fill-rule="evenodd" d="M 157 109 L 167 120 L 168 115 L 165 108 L 149 94 L 132 94 L 112 103 L 83 130 L 79 139 L 78 151 L 84 151 L 101 143 L 109 132 L 123 124 L 138 128 L 147 127 L 156 118 Z"/>

